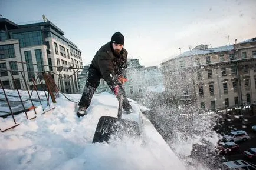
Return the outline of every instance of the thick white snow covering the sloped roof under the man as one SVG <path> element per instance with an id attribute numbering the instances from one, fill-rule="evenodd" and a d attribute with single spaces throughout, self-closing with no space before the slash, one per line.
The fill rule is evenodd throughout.
<path id="1" fill-rule="evenodd" d="M 15 91 L 8 92 L 17 95 Z M 40 96 L 43 95 L 41 92 Z M 81 98 L 81 95 L 67 96 L 73 101 Z M 55 109 L 46 114 L 41 115 L 42 106 L 38 106 L 35 119 L 26 119 L 25 113 L 15 115 L 20 125 L 0 135 L 0 169 L 185 169 L 142 115 L 140 110 L 146 108 L 132 100 L 130 103 L 134 112 L 123 114 L 122 118 L 139 122 L 143 135 L 140 139 L 110 140 L 109 144 L 92 144 L 99 118 L 117 116 L 118 101 L 107 92 L 93 96 L 83 118 L 76 116 L 77 104 L 63 95 L 57 98 L 57 104 L 51 103 Z M 28 116 L 35 116 L 34 111 L 29 111 Z M 1 129 L 10 124 L 14 124 L 11 116 L 0 118 Z"/>

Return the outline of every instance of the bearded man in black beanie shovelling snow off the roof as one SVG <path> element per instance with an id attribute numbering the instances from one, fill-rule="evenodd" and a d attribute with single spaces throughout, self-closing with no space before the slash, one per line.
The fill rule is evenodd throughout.
<path id="1" fill-rule="evenodd" d="M 116 95 L 117 99 L 122 94 L 124 96 L 123 109 L 127 114 L 132 111 L 132 106 L 125 96 L 123 83 L 126 79 L 127 51 L 123 48 L 124 36 L 120 32 L 113 34 L 111 41 L 101 46 L 96 52 L 91 65 L 88 69 L 88 79 L 84 88 L 83 95 L 79 102 L 77 116 L 86 115 L 86 109 L 90 106 L 94 91 L 100 84 L 100 78 L 103 78 L 110 89 Z"/>

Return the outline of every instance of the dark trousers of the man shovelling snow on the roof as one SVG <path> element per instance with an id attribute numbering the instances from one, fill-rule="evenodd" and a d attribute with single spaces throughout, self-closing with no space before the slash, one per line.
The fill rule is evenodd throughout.
<path id="1" fill-rule="evenodd" d="M 86 108 L 88 108 L 90 106 L 94 91 L 99 86 L 100 78 L 101 78 L 100 72 L 97 71 L 97 69 L 94 68 L 94 66 L 90 65 L 88 71 L 89 71 L 89 73 L 88 73 L 88 78 L 86 81 L 86 86 L 84 87 L 83 95 L 78 104 L 79 106 L 83 106 Z M 109 85 L 109 87 L 110 87 L 111 91 L 114 92 L 114 87 L 110 86 L 110 85 Z M 119 91 L 123 91 L 123 94 L 124 94 L 123 109 L 124 109 L 124 111 L 129 111 L 130 109 L 132 109 L 132 106 L 130 105 L 129 101 L 127 100 L 122 86 L 120 86 Z M 117 98 L 117 99 L 119 99 L 119 98 Z"/>

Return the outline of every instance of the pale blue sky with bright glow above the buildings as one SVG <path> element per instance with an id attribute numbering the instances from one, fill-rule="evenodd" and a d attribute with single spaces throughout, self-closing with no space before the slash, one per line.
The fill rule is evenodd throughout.
<path id="1" fill-rule="evenodd" d="M 13 1 L 0 0 L 0 14 L 17 24 L 42 20 L 65 32 L 90 64 L 114 32 L 125 36 L 129 58 L 145 66 L 199 44 L 224 46 L 256 36 L 255 0 L 183 1 Z"/>

